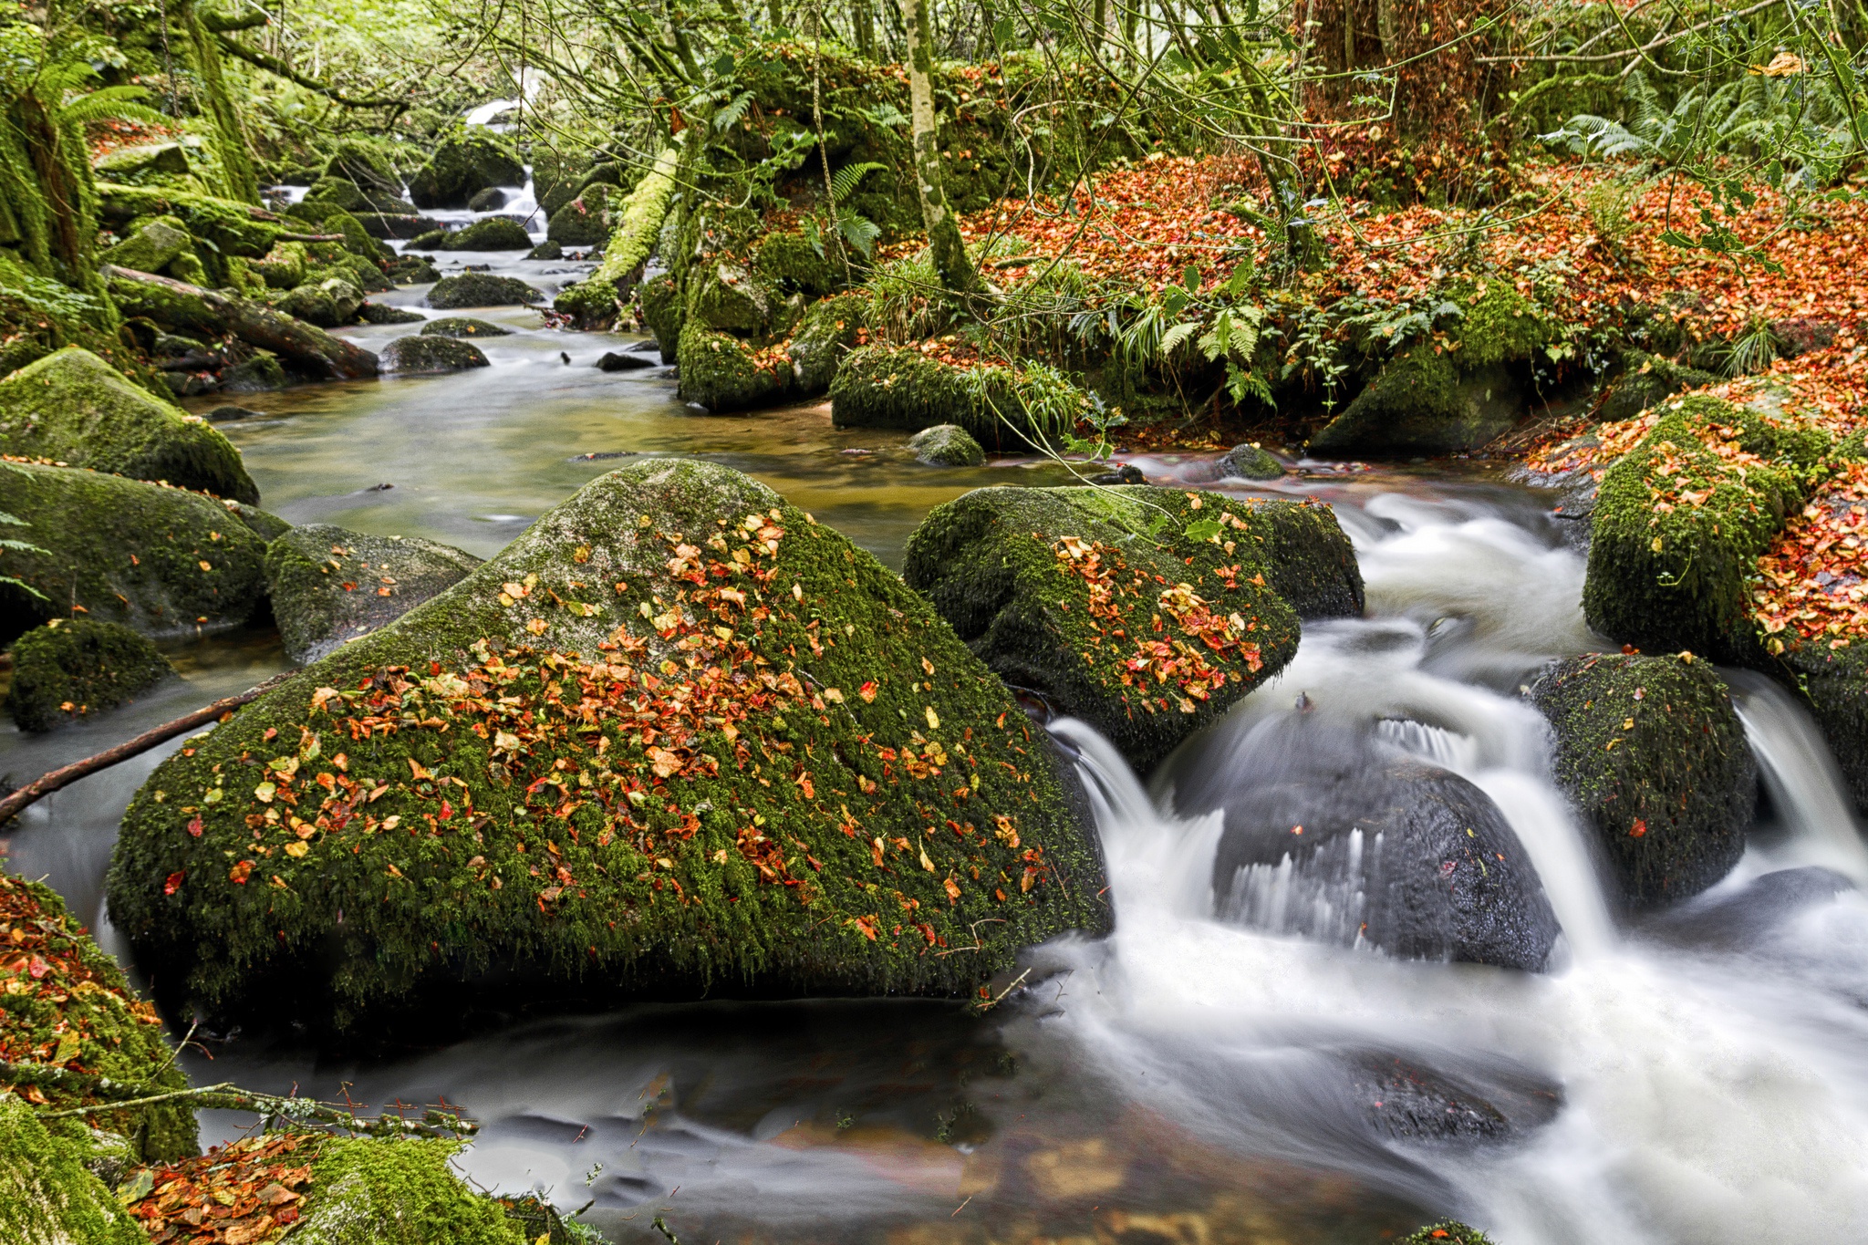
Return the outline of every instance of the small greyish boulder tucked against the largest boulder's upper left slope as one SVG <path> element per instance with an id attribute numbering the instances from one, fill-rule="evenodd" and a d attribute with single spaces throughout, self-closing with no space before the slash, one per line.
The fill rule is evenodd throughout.
<path id="1" fill-rule="evenodd" d="M 366 536 L 329 523 L 291 528 L 265 549 L 273 618 L 297 664 L 402 618 L 480 566 L 415 536 Z"/>

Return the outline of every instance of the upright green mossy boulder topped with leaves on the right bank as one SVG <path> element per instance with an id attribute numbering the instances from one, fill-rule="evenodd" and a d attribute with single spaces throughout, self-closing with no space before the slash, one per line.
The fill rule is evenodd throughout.
<path id="1" fill-rule="evenodd" d="M 1763 664 L 1747 582 L 1829 450 L 1825 433 L 1784 416 L 1707 394 L 1672 399 L 1603 474 L 1582 586 L 1590 625 L 1640 650 Z"/>

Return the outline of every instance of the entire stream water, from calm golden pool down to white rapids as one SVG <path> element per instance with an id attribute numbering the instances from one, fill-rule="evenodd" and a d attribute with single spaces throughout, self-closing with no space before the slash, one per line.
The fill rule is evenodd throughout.
<path id="1" fill-rule="evenodd" d="M 547 291 L 588 267 L 445 258 Z M 822 405 L 708 416 L 667 370 L 592 366 L 630 338 L 476 314 L 514 330 L 478 342 L 491 368 L 245 399 L 263 416 L 222 427 L 267 508 L 489 556 L 600 472 L 682 454 L 764 480 L 899 566 L 934 504 L 1065 478 L 921 467 L 900 435 L 837 431 Z M 1158 483 L 1216 476 L 1199 455 L 1134 461 Z M 637 1006 L 364 1064 L 232 1036 L 191 1053 L 191 1073 L 458 1103 L 486 1126 L 460 1159 L 469 1176 L 588 1204 L 618 1241 L 663 1239 L 661 1215 L 697 1241 L 1351 1243 L 1442 1213 L 1502 1245 L 1868 1239 L 1868 851 L 1806 715 L 1732 674 L 1765 788 L 1752 846 L 1709 894 L 1633 920 L 1605 900 L 1522 696 L 1550 657 L 1599 648 L 1547 498 L 1457 469 L 1319 470 L 1267 491 L 1336 504 L 1367 616 L 1308 627 L 1154 790 L 1089 728 L 1054 724 L 1091 791 L 1119 926 L 1035 948 L 988 1017 L 908 1000 Z M 0 726 L 0 773 L 37 775 L 284 664 L 267 631 L 172 657 L 179 679 L 106 719 L 39 739 Z M 1343 915 L 1364 896 L 1295 868 L 1255 868 L 1244 902 L 1214 902 L 1225 801 L 1308 747 L 1306 722 L 1496 803 L 1562 926 L 1547 972 L 1360 944 Z M 118 816 L 159 756 L 35 806 L 7 866 L 101 922 Z M 204 1137 L 248 1124 L 207 1112 Z"/>

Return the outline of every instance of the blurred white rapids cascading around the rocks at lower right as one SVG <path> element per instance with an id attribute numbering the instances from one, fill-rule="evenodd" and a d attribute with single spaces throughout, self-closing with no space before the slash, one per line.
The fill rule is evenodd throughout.
<path id="1" fill-rule="evenodd" d="M 1212 1144 L 1352 1172 L 1509 1245 L 1868 1239 L 1868 903 L 1844 881 L 1868 879 L 1868 851 L 1806 717 L 1735 679 L 1782 825 L 1685 913 L 1618 926 L 1519 692 L 1549 657 L 1593 646 L 1580 556 L 1481 504 L 1386 495 L 1337 515 L 1369 616 L 1308 627 L 1285 672 L 1164 765 L 1153 799 L 1093 730 L 1054 726 L 1091 790 L 1117 931 L 1046 948 L 1072 1000 L 1050 1036 Z M 1491 795 L 1564 930 L 1549 971 L 1287 933 L 1306 896 L 1272 903 L 1293 883 L 1270 868 L 1250 920 L 1216 918 L 1224 799 L 1181 819 L 1175 786 L 1252 790 L 1267 739 L 1304 715 L 1373 724 L 1375 756 L 1408 752 Z M 1509 1127 L 1384 1131 L 1356 1092 L 1371 1051 L 1494 1092 Z M 1554 1114 L 1506 1105 L 1537 1084 Z"/>

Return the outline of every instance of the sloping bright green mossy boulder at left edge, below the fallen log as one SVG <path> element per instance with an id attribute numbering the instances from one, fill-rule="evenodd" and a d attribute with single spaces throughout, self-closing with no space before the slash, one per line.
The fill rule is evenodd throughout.
<path id="1" fill-rule="evenodd" d="M 0 381 L 0 450 L 260 500 L 226 437 L 77 345 Z"/>

